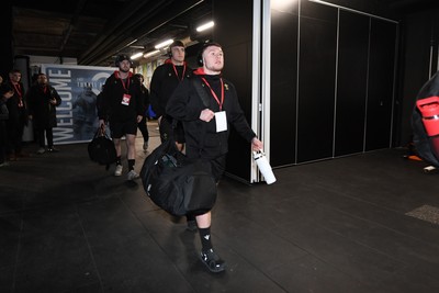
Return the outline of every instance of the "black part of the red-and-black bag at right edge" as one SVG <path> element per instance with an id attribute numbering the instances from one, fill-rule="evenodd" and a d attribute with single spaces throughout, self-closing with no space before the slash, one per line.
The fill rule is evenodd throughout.
<path id="1" fill-rule="evenodd" d="M 419 90 L 416 101 L 439 95 L 439 71 L 436 72 Z M 431 137 L 427 135 L 423 123 L 423 115 L 416 104 L 412 115 L 413 143 L 416 147 L 417 155 L 425 161 L 439 167 L 439 158 L 435 156 L 436 151 L 432 148 Z"/>

